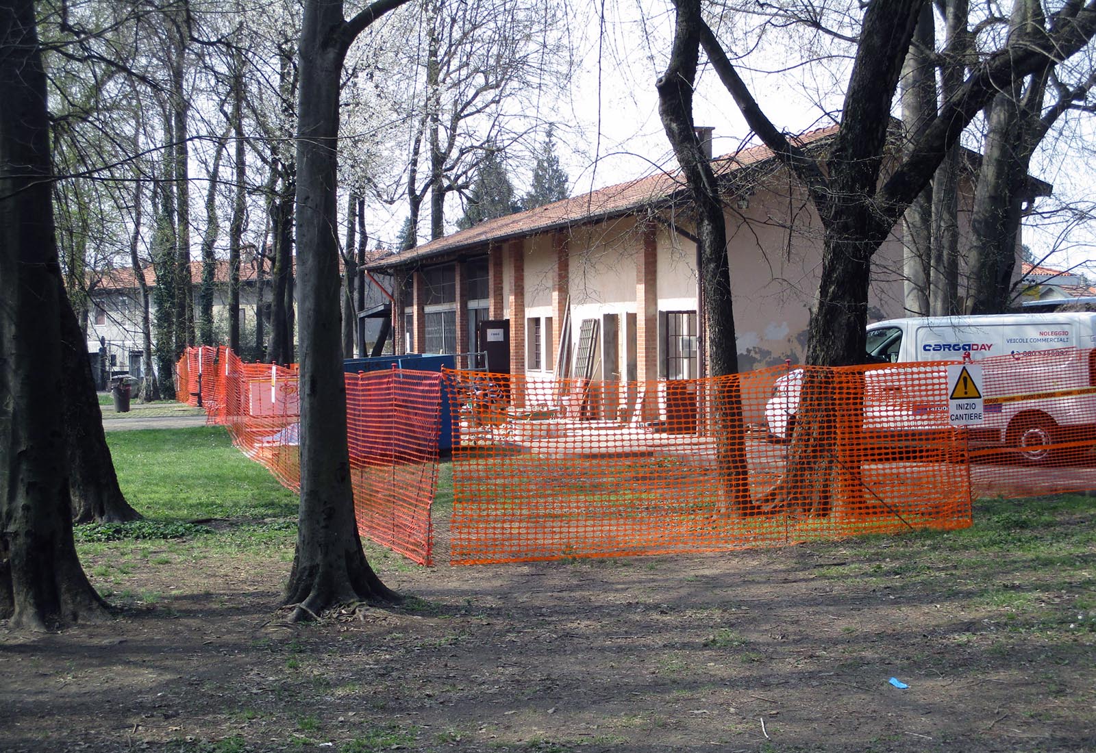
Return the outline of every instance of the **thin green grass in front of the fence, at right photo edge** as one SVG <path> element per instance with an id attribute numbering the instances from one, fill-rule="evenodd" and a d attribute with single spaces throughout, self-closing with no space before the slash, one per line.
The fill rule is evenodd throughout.
<path id="1" fill-rule="evenodd" d="M 817 546 L 817 544 L 812 544 Z M 841 565 L 817 574 L 864 587 L 887 583 L 986 610 L 1000 625 L 993 651 L 1024 641 L 1091 640 L 1096 633 L 1096 499 L 1057 495 L 981 499 L 974 524 L 951 532 L 863 536 L 820 545 Z M 971 635 L 954 638 L 971 642 Z"/>

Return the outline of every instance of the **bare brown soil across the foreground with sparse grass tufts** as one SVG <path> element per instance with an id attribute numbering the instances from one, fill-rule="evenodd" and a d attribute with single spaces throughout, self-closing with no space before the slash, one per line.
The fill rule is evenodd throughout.
<path id="1" fill-rule="evenodd" d="M 114 623 L 0 625 L 0 749 L 1096 750 L 1092 634 L 1005 639 L 938 561 L 848 557 L 385 572 L 406 605 L 313 625 L 274 610 L 283 563 L 161 566 L 139 587 L 175 593 Z"/>

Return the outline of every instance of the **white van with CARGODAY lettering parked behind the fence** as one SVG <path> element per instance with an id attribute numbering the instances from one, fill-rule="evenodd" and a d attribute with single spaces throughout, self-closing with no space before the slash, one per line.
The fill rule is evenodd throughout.
<path id="1" fill-rule="evenodd" d="M 869 362 L 994 359 L 983 372 L 985 419 L 970 430 L 971 440 L 1013 448 L 1032 462 L 1048 460 L 1050 444 L 1096 442 L 1094 348 L 1093 312 L 895 318 L 867 331 Z M 770 441 L 791 437 L 802 375 L 792 371 L 773 387 L 765 406 Z M 948 428 L 945 384 L 938 367 L 868 371 L 865 431 Z"/>

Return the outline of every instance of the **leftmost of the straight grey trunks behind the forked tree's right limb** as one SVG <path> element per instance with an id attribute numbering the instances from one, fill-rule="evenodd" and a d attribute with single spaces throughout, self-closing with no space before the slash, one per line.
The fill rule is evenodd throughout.
<path id="1" fill-rule="evenodd" d="M 903 152 L 909 155 L 913 135 L 936 117 L 936 68 L 933 7 L 925 3 L 902 69 Z M 933 241 L 933 186 L 929 184 L 902 217 L 902 277 L 906 316 L 928 314 L 928 280 Z"/>

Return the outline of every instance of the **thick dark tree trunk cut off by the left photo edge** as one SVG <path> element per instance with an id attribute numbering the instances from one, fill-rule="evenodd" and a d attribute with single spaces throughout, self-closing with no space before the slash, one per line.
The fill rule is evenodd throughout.
<path id="1" fill-rule="evenodd" d="M 32 0 L 10 0 L 0 13 L 0 617 L 14 628 L 49 629 L 104 618 L 107 610 L 72 541 L 57 399 L 64 283 L 34 13 Z"/>

